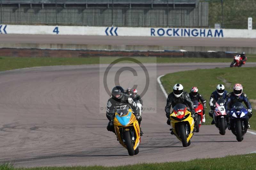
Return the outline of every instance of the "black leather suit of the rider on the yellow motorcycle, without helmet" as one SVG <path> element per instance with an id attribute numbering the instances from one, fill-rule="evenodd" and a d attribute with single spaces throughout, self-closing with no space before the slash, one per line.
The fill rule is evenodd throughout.
<path id="1" fill-rule="evenodd" d="M 194 110 L 194 107 L 193 107 L 193 102 L 191 101 L 188 92 L 183 92 L 181 94 L 181 96 L 178 97 L 178 98 L 174 96 L 173 92 L 171 92 L 168 95 L 167 103 L 166 103 L 166 106 L 165 106 L 165 113 L 166 113 L 166 117 L 168 119 L 170 118 L 170 115 L 171 115 L 171 107 L 174 107 L 175 105 L 177 105 L 179 103 L 184 104 L 188 108 L 190 108 L 191 114 L 195 113 L 195 110 Z"/>

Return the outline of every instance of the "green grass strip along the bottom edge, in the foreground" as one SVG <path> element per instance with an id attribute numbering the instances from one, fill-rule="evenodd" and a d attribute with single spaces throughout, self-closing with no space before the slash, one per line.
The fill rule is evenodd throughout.
<path id="1" fill-rule="evenodd" d="M 1 170 L 153 170 L 153 169 L 179 169 L 179 170 L 233 170 L 233 169 L 255 169 L 254 163 L 256 153 L 226 156 L 224 158 L 194 159 L 187 162 L 168 162 L 153 164 L 136 164 L 117 167 L 103 166 L 74 166 L 74 167 L 38 167 L 38 168 L 14 168 L 11 165 L 0 166 Z"/>

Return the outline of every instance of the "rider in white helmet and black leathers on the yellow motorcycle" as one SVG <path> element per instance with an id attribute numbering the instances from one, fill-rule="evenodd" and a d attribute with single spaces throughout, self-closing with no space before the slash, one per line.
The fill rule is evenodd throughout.
<path id="1" fill-rule="evenodd" d="M 193 107 L 193 102 L 191 101 L 188 92 L 184 91 L 183 85 L 175 84 L 173 86 L 173 92 L 168 95 L 167 103 L 165 106 L 166 117 L 168 118 L 167 124 L 171 125 L 170 115 L 171 115 L 171 107 L 174 107 L 177 104 L 184 104 L 191 110 L 191 116 L 195 119 L 195 110 Z M 171 134 L 174 134 L 171 132 Z"/>

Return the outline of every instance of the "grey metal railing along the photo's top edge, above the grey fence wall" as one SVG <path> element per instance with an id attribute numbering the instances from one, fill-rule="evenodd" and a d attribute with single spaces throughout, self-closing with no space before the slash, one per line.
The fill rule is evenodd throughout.
<path id="1" fill-rule="evenodd" d="M 196 4 L 198 0 L 1 0 L 1 4 Z"/>

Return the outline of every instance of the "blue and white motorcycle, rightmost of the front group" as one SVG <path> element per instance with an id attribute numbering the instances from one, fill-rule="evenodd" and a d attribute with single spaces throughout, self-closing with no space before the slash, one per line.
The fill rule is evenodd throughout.
<path id="1" fill-rule="evenodd" d="M 236 135 L 236 140 L 241 142 L 248 129 L 248 111 L 242 103 L 234 103 L 229 110 L 230 130 Z"/>

